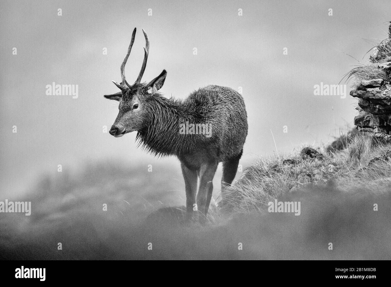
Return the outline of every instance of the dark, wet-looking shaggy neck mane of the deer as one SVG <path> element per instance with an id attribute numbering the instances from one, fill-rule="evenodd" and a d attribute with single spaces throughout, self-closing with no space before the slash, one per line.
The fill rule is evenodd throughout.
<path id="1" fill-rule="evenodd" d="M 145 106 L 150 109 L 150 116 L 136 137 L 143 149 L 164 157 L 180 155 L 196 148 L 194 136 L 179 134 L 181 124 L 197 122 L 194 112 L 186 104 L 157 93 L 147 98 Z"/>

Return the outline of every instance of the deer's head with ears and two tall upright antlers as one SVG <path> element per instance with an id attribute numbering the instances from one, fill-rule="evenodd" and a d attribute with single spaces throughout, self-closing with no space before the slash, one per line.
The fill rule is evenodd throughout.
<path id="1" fill-rule="evenodd" d="M 154 94 L 163 86 L 167 72 L 163 70 L 158 77 L 154 78 L 149 83 L 141 83 L 141 78 L 147 65 L 148 53 L 149 53 L 149 40 L 148 36 L 143 30 L 145 37 L 145 48 L 144 48 L 144 61 L 141 67 L 140 73 L 133 85 L 129 85 L 126 81 L 124 68 L 127 62 L 127 58 L 132 50 L 133 42 L 135 41 L 136 28 L 133 30 L 132 39 L 127 49 L 127 54 L 121 65 L 121 78 L 120 84 L 113 81 L 121 91 L 115 94 L 108 94 L 104 97 L 109 100 L 116 100 L 119 102 L 118 105 L 118 116 L 115 119 L 114 124 L 111 126 L 110 134 L 115 137 L 121 137 L 122 135 L 138 131 L 143 128 L 145 119 L 151 116 L 149 109 L 149 101 L 152 100 Z"/>

